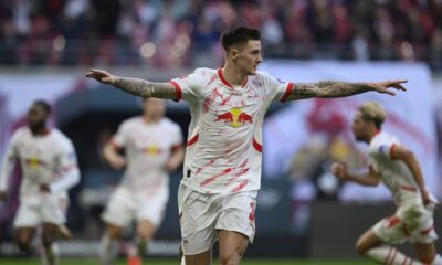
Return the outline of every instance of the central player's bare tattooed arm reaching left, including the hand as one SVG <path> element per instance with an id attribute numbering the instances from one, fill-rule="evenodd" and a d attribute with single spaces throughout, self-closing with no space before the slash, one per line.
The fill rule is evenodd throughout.
<path id="1" fill-rule="evenodd" d="M 138 78 L 126 78 L 112 75 L 103 70 L 91 70 L 86 77 L 94 78 L 103 84 L 113 85 L 122 91 L 140 97 L 157 97 L 176 99 L 177 89 L 169 83 L 156 83 Z"/>

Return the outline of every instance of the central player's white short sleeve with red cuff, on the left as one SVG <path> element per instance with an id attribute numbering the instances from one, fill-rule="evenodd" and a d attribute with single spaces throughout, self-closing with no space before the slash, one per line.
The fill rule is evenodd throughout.
<path id="1" fill-rule="evenodd" d="M 207 71 L 203 68 L 197 68 L 190 75 L 183 75 L 178 78 L 169 81 L 171 85 L 177 89 L 177 102 L 185 99 L 186 102 L 192 102 L 200 97 L 201 87 L 204 83 Z"/>

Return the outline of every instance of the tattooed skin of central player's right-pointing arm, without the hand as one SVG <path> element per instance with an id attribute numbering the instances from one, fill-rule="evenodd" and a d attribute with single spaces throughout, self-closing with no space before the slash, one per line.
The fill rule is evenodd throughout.
<path id="1" fill-rule="evenodd" d="M 368 83 L 349 83 L 323 81 L 317 83 L 297 83 L 293 85 L 290 99 L 303 99 L 311 97 L 346 97 L 371 91 Z"/>

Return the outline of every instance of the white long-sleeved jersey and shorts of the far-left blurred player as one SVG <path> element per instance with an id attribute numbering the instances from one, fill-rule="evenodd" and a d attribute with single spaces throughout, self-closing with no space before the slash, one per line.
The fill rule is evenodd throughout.
<path id="1" fill-rule="evenodd" d="M 0 190 L 7 190 L 15 161 L 20 163 L 22 180 L 14 226 L 34 227 L 41 223 L 64 223 L 69 205 L 67 190 L 80 181 L 71 140 L 57 129 L 34 136 L 28 127 L 19 128 L 13 134 L 3 159 Z M 41 184 L 49 184 L 50 192 L 41 192 Z"/>

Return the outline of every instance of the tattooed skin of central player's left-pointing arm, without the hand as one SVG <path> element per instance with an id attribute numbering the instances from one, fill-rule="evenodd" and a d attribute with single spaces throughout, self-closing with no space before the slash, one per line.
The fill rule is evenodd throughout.
<path id="1" fill-rule="evenodd" d="M 155 83 L 138 78 L 118 77 L 114 86 L 140 97 L 177 98 L 177 91 L 169 83 Z"/>

